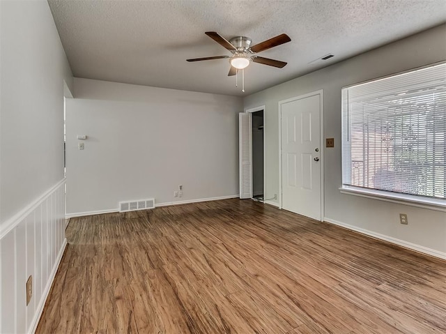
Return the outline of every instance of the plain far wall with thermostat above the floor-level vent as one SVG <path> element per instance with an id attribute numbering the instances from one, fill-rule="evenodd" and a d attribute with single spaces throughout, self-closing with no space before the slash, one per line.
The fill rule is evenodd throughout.
<path id="1" fill-rule="evenodd" d="M 238 195 L 241 98 L 79 78 L 74 89 L 66 105 L 68 215 L 114 211 L 132 199 Z M 174 198 L 178 185 L 182 198 Z"/>

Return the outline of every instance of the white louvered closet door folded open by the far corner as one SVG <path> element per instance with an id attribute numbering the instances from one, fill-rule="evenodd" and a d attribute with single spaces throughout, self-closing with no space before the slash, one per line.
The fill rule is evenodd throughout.
<path id="1" fill-rule="evenodd" d="M 238 118 L 240 153 L 240 198 L 252 198 L 252 139 L 251 114 L 243 112 Z"/>

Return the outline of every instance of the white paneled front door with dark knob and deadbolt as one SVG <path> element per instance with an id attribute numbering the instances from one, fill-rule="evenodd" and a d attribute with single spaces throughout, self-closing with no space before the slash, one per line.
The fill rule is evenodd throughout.
<path id="1" fill-rule="evenodd" d="M 279 104 L 282 208 L 321 220 L 321 93 Z"/>

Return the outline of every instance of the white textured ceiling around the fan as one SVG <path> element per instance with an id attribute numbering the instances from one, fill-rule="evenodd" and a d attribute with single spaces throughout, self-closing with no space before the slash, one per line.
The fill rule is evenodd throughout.
<path id="1" fill-rule="evenodd" d="M 49 0 L 75 77 L 248 95 L 303 73 L 446 22 L 445 0 Z M 259 53 L 282 69 L 252 63 L 246 92 L 227 77 L 230 55 L 204 34 L 252 38 L 286 33 L 291 42 Z M 316 60 L 334 54 L 327 61 Z M 316 61 L 315 61 L 316 60 Z"/>

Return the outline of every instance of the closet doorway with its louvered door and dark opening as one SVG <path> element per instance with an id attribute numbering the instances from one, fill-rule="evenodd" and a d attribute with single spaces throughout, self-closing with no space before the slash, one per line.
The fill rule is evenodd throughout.
<path id="1" fill-rule="evenodd" d="M 264 202 L 265 106 L 240 113 L 240 198 Z"/>

